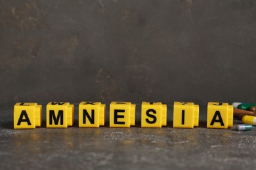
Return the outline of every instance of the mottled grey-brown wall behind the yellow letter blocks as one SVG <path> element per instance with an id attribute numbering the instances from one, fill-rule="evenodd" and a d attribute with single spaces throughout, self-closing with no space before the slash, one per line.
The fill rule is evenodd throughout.
<path id="1" fill-rule="evenodd" d="M 256 2 L 0 1 L 0 103 L 256 101 Z"/>

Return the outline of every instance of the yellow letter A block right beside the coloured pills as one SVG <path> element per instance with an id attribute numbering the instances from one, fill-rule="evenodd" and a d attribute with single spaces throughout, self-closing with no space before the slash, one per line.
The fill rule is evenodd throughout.
<path id="1" fill-rule="evenodd" d="M 228 103 L 209 102 L 207 128 L 227 129 L 233 126 L 234 107 Z"/>

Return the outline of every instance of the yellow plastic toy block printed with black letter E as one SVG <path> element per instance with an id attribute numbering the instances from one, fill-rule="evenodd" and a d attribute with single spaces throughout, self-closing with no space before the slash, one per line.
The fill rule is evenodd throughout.
<path id="1" fill-rule="evenodd" d="M 135 126 L 135 105 L 131 102 L 110 103 L 110 127 Z"/>

